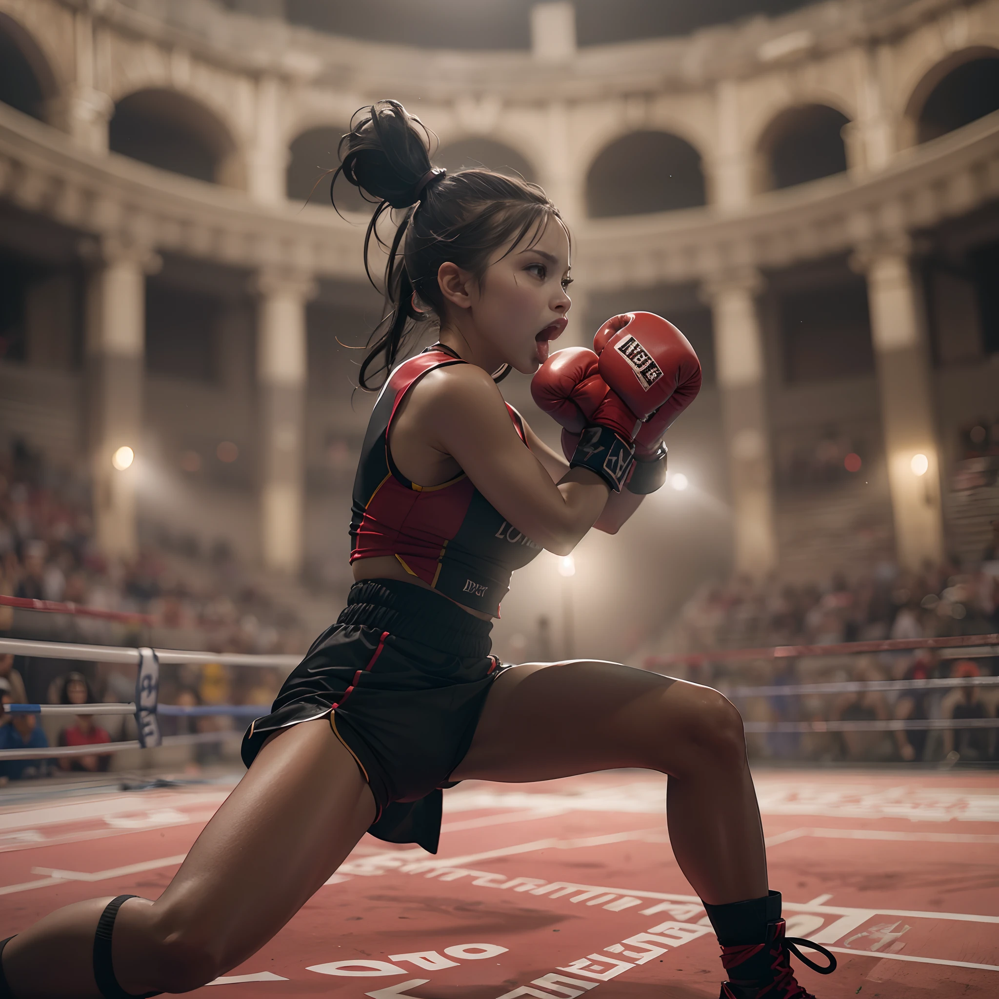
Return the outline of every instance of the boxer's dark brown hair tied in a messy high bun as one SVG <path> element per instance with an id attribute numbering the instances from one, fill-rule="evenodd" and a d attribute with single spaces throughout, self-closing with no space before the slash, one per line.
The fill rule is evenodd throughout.
<path id="1" fill-rule="evenodd" d="M 378 206 L 365 234 L 365 271 L 376 288 L 372 237 L 389 253 L 385 312 L 358 375 L 362 389 L 375 389 L 373 377 L 388 378 L 415 324 L 429 318 L 414 305 L 414 292 L 439 321 L 444 318 L 438 284 L 442 264 L 457 264 L 481 282 L 500 247 L 511 250 L 527 236 L 532 242 L 540 239 L 552 218 L 564 223 L 536 184 L 486 169 L 432 173 L 431 133 L 398 101 L 358 111 L 339 153 L 341 165 L 330 186 L 334 206 L 333 186 L 341 174 Z M 405 214 L 387 244 L 378 226 L 392 209 Z"/>

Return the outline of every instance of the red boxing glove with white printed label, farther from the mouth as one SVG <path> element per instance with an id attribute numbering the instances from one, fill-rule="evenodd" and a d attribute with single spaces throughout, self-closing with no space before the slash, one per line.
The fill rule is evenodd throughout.
<path id="1" fill-rule="evenodd" d="M 643 421 L 635 455 L 652 455 L 673 421 L 700 391 L 700 362 L 686 337 L 653 313 L 614 316 L 596 331 L 598 371 Z"/>

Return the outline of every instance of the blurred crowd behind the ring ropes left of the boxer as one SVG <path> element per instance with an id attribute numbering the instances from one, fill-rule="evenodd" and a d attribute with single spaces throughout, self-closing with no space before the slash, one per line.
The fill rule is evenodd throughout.
<path id="1" fill-rule="evenodd" d="M 294 611 L 248 584 L 249 574 L 228 553 L 216 550 L 199 558 L 189 544 L 161 541 L 145 545 L 133 561 L 109 561 L 95 543 L 88 502 L 78 481 L 47 468 L 25 449 L 0 454 L 0 593 L 148 618 L 109 623 L 0 606 L 0 635 L 213 652 L 302 650 L 304 633 Z M 273 668 L 221 663 L 164 667 L 160 700 L 186 706 L 270 705 L 283 679 Z M 0 655 L 4 703 L 127 703 L 134 700 L 134 684 L 132 667 Z M 161 718 L 166 735 L 233 727 L 228 718 Z M 0 715 L 0 749 L 134 738 L 129 715 Z M 219 744 L 199 742 L 192 751 L 195 764 L 208 763 L 219 757 Z M 107 754 L 99 753 L 49 762 L 4 760 L 0 782 L 62 770 L 100 771 L 109 762 Z"/>

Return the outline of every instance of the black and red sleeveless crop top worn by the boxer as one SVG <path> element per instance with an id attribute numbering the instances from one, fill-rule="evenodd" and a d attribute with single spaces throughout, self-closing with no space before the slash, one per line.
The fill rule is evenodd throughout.
<path id="1" fill-rule="evenodd" d="M 441 486 L 417 486 L 392 460 L 389 428 L 406 394 L 428 372 L 464 365 L 437 345 L 403 362 L 389 376 L 368 424 L 351 507 L 351 563 L 393 555 L 453 600 L 500 615 L 510 573 L 541 550 L 472 485 L 464 473 Z M 509 418 L 526 444 L 520 415 Z"/>

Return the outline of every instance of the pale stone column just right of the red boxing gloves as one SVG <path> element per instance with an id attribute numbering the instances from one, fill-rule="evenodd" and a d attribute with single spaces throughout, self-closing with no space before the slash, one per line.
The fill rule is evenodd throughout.
<path id="1" fill-rule="evenodd" d="M 777 564 L 759 274 L 740 269 L 704 288 L 714 318 L 715 366 L 732 495 L 735 569 L 765 575 Z"/>

